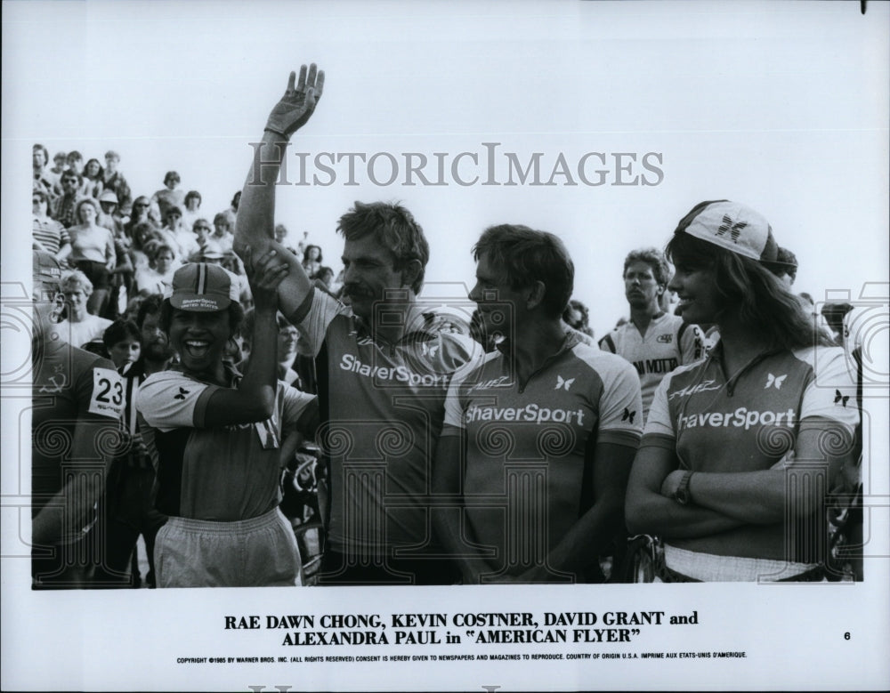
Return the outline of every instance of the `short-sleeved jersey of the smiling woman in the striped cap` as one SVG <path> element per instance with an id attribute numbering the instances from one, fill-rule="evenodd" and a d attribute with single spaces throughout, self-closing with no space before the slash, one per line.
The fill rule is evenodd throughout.
<path id="1" fill-rule="evenodd" d="M 218 389 L 167 370 L 150 375 L 136 393 L 142 438 L 156 457 L 157 507 L 166 515 L 249 520 L 281 501 L 280 441 L 295 430 L 314 396 L 279 382 L 266 421 L 198 428 Z"/>

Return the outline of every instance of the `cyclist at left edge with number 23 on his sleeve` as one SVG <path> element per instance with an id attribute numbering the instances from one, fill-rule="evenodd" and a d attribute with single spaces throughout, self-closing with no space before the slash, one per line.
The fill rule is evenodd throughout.
<path id="1" fill-rule="evenodd" d="M 109 359 L 54 333 L 59 262 L 43 251 L 33 257 L 32 586 L 86 587 L 97 562 L 95 508 L 120 438 L 124 387 Z"/>

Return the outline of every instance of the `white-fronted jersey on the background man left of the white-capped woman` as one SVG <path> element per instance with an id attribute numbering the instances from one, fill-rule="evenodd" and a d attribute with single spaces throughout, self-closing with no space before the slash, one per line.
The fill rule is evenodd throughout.
<path id="1" fill-rule="evenodd" d="M 687 325 L 680 316 L 668 313 L 652 318 L 646 334 L 640 334 L 634 323 L 627 321 L 606 334 L 599 344 L 603 351 L 618 354 L 636 368 L 643 391 L 643 421 L 661 379 L 677 366 L 705 357 L 705 339 L 699 326 Z"/>

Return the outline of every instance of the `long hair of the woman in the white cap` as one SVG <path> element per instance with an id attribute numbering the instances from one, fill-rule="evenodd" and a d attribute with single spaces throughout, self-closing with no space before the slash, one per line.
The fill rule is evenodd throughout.
<path id="1" fill-rule="evenodd" d="M 682 228 L 668 241 L 665 255 L 675 266 L 713 271 L 721 304 L 715 319 L 718 326 L 737 320 L 763 334 L 773 349 L 832 346 L 797 296 L 767 265 L 690 236 Z"/>

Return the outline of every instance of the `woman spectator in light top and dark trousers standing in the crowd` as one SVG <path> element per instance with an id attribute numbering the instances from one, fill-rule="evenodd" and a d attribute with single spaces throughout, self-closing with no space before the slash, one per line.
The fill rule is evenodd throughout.
<path id="1" fill-rule="evenodd" d="M 117 249 L 111 231 L 96 224 L 99 204 L 92 197 L 77 203 L 80 223 L 68 232 L 71 237 L 69 264 L 81 270 L 93 286 L 89 310 L 103 315 L 108 307 L 111 272 L 117 267 Z"/>

